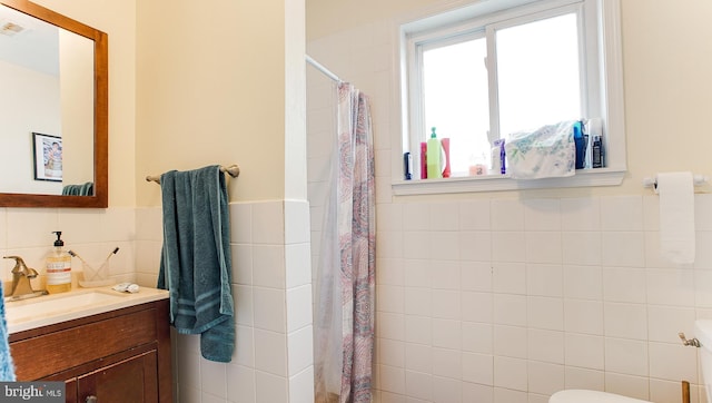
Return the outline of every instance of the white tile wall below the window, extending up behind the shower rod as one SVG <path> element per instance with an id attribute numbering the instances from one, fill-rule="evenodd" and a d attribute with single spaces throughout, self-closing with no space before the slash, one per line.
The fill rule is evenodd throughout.
<path id="1" fill-rule="evenodd" d="M 307 47 L 372 96 L 377 164 L 387 165 L 376 177 L 375 401 L 543 403 L 584 387 L 663 403 L 679 401 L 686 380 L 704 402 L 695 351 L 678 332 L 712 317 L 712 195 L 695 195 L 698 255 L 682 268 L 657 253 L 655 195 L 393 197 L 397 88 L 376 79 L 392 73 L 392 56 L 376 50 L 393 36 L 388 22 L 374 26 Z M 307 85 L 330 88 L 316 71 Z M 309 111 L 320 128 L 308 132 L 309 153 L 332 141 L 318 121 L 333 116 Z M 326 178 L 310 178 L 318 204 Z"/>

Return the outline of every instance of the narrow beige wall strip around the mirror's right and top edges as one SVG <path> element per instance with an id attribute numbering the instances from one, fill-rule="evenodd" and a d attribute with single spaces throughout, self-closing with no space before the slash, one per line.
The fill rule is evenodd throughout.
<path id="1" fill-rule="evenodd" d="M 109 36 L 109 207 L 135 206 L 136 1 L 34 2 Z"/>

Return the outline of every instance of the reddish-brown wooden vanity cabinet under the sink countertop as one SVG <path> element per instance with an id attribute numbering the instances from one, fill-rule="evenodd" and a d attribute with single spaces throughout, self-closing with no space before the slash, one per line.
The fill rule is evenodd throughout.
<path id="1" fill-rule="evenodd" d="M 18 381 L 65 381 L 67 402 L 172 401 L 168 299 L 18 332 L 10 352 Z"/>

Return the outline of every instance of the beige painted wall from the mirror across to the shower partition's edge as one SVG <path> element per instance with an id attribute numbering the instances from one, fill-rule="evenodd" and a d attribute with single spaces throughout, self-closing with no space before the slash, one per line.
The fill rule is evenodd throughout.
<path id="1" fill-rule="evenodd" d="M 304 75 L 304 23 L 285 24 L 303 0 L 38 3 L 109 35 L 110 207 L 159 205 L 147 175 L 210 164 L 240 166 L 231 202 L 306 198 L 304 85 L 285 85 Z"/>

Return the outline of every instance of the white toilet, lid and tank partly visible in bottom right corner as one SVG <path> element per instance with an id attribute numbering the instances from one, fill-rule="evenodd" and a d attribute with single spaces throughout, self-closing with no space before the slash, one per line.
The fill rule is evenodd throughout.
<path id="1" fill-rule="evenodd" d="M 698 354 L 702 363 L 702 379 L 708 396 L 712 396 L 712 320 L 694 323 L 694 337 L 700 343 Z M 694 340 L 693 340 L 694 342 Z M 571 389 L 554 393 L 548 403 L 650 403 L 607 392 Z"/>

